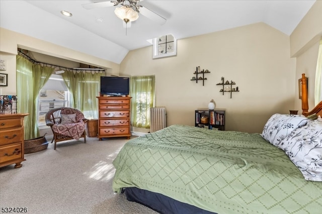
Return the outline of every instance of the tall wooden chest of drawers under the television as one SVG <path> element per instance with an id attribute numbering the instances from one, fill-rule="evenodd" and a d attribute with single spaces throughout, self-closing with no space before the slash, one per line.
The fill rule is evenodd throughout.
<path id="1" fill-rule="evenodd" d="M 98 138 L 131 137 L 129 96 L 97 96 L 99 99 Z"/>

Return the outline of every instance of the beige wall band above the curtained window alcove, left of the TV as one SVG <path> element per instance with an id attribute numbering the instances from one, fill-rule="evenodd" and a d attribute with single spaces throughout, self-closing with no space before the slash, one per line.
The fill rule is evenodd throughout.
<path id="1" fill-rule="evenodd" d="M 49 56 L 102 67 L 106 69 L 107 74 L 119 74 L 119 64 L 0 28 L 0 59 L 6 60 L 7 63 L 7 70 L 1 72 L 8 73 L 9 80 L 7 87 L 0 87 L 3 94 L 16 94 L 17 92 L 16 55 L 18 47 Z M 55 61 L 52 63 L 55 63 Z"/>

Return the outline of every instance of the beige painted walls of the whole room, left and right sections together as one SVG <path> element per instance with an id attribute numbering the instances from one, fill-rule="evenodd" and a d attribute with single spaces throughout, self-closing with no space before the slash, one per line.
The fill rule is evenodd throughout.
<path id="1" fill-rule="evenodd" d="M 7 61 L 9 86 L 16 92 L 17 47 L 51 56 L 107 68 L 108 74 L 156 76 L 156 106 L 167 107 L 167 126 L 194 125 L 194 110 L 226 109 L 226 130 L 262 132 L 275 113 L 301 109 L 297 80 L 309 77 L 309 106 L 313 106 L 314 73 L 322 1 L 316 1 L 289 37 L 258 23 L 226 31 L 178 40 L 177 56 L 152 59 L 152 46 L 130 51 L 120 65 L 39 39 L 0 28 L 0 58 Z M 296 58 L 290 58 L 296 57 Z M 205 86 L 190 81 L 195 67 L 208 69 Z M 240 92 L 222 95 L 216 83 L 221 77 L 236 82 Z M 311 108 L 310 108 L 311 109 Z"/>

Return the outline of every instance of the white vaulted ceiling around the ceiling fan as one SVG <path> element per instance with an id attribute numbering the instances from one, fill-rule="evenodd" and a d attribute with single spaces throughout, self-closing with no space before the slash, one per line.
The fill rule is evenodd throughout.
<path id="1" fill-rule="evenodd" d="M 148 40 L 166 34 L 183 39 L 264 22 L 290 35 L 315 0 L 144 0 L 144 6 L 167 19 L 166 23 L 159 25 L 139 14 L 127 33 L 114 14 L 114 6 L 91 10 L 82 6 L 95 2 L 106 1 L 2 0 L 0 26 L 121 63 L 129 50 L 149 46 Z M 62 10 L 72 13 L 72 17 L 62 16 Z"/>

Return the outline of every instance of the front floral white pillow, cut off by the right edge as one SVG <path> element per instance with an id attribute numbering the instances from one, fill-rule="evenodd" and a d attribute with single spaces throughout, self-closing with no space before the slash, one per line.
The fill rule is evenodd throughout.
<path id="1" fill-rule="evenodd" d="M 305 180 L 322 181 L 322 121 L 296 129 L 281 141 L 281 147 Z"/>

